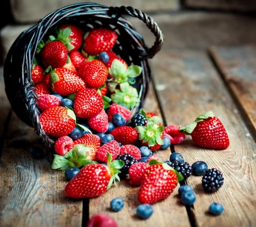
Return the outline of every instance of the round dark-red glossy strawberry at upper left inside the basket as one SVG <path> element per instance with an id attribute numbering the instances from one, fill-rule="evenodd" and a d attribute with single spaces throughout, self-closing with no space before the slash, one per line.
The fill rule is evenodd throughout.
<path id="1" fill-rule="evenodd" d="M 52 66 L 53 69 L 60 68 L 67 62 L 68 51 L 61 41 L 54 40 L 44 45 L 40 57 L 45 68 L 48 66 Z"/>

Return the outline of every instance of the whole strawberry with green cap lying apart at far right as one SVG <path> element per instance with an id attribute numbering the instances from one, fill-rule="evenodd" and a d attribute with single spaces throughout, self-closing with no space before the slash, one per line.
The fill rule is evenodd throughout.
<path id="1" fill-rule="evenodd" d="M 192 124 L 180 127 L 180 131 L 191 135 L 193 142 L 200 147 L 223 150 L 229 146 L 226 129 L 211 111 L 198 116 Z"/>

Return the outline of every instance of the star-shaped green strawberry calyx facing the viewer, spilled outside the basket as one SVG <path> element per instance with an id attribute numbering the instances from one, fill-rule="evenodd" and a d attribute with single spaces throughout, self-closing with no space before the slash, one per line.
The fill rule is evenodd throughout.
<path id="1" fill-rule="evenodd" d="M 149 121 L 147 126 L 136 126 L 136 131 L 139 133 L 139 140 L 142 140 L 143 143 L 148 142 L 148 147 L 164 144 L 161 138 L 164 126 L 159 126 L 154 121 Z"/>

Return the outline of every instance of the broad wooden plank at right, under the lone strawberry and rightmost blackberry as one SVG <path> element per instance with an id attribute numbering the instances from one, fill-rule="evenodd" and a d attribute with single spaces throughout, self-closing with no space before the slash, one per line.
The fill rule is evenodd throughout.
<path id="1" fill-rule="evenodd" d="M 209 110 L 227 129 L 230 146 L 226 150 L 202 149 L 190 136 L 175 151 L 192 165 L 205 161 L 225 177 L 223 187 L 212 194 L 202 188 L 202 177 L 191 176 L 188 184 L 197 195 L 193 213 L 198 226 L 255 226 L 256 145 L 230 94 L 205 52 L 162 51 L 153 67 L 161 71 L 155 78 L 157 93 L 167 124 L 186 126 Z M 161 87 L 161 89 L 159 89 Z M 225 211 L 214 217 L 207 213 L 212 202 L 223 204 Z"/>

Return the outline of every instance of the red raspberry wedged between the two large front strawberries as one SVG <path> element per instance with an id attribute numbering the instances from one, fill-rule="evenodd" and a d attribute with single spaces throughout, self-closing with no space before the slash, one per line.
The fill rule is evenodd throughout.
<path id="1" fill-rule="evenodd" d="M 141 179 L 148 166 L 148 163 L 134 163 L 131 165 L 129 168 L 129 178 L 132 185 L 139 186 L 141 184 Z"/>

